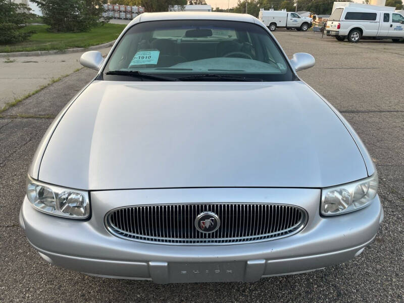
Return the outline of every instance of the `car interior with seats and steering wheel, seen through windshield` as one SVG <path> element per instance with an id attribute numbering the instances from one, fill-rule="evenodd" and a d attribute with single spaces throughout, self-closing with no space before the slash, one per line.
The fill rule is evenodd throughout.
<path id="1" fill-rule="evenodd" d="M 211 29 L 183 30 L 181 36 L 176 36 L 178 33 L 170 34 L 171 32 L 171 30 L 161 30 L 132 35 L 129 45 L 124 47 L 127 52 L 120 57 L 116 69 L 130 68 L 131 60 L 138 52 L 156 50 L 160 52 L 157 64 L 136 66 L 167 68 L 183 62 L 218 57 L 274 62 L 270 58 L 271 53 L 268 48 L 256 34 L 226 30 L 219 35 Z M 254 47 L 254 45 L 260 45 L 260 47 Z M 115 63 L 113 66 L 115 68 Z"/>

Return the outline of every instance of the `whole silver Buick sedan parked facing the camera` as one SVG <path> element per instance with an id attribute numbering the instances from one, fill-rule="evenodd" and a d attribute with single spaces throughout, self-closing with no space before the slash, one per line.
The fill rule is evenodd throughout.
<path id="1" fill-rule="evenodd" d="M 256 281 L 348 261 L 383 209 L 364 144 L 250 15 L 142 14 L 62 110 L 20 224 L 47 262 L 157 283 Z"/>

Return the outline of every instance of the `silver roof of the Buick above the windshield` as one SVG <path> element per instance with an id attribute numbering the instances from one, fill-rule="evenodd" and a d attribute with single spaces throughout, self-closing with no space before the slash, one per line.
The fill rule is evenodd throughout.
<path id="1" fill-rule="evenodd" d="M 138 22 L 159 20 L 227 20 L 258 23 L 258 19 L 248 14 L 215 13 L 215 12 L 166 12 L 143 13 L 133 19 L 129 25 Z M 257 21 L 256 21 L 257 20 Z"/>

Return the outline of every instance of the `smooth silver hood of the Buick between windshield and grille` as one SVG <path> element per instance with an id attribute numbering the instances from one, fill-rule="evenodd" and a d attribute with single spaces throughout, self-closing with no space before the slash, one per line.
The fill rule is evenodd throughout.
<path id="1" fill-rule="evenodd" d="M 325 187 L 367 177 L 304 82 L 94 81 L 45 149 L 39 180 L 79 189 Z"/>

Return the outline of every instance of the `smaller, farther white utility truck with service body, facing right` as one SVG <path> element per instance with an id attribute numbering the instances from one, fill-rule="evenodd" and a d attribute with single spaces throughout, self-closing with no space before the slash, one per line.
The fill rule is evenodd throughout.
<path id="1" fill-rule="evenodd" d="M 258 19 L 260 19 L 270 31 L 274 31 L 277 28 L 294 28 L 296 30 L 307 31 L 313 25 L 313 18 L 300 17 L 296 13 L 286 12 L 285 10 L 264 11 L 264 9 L 261 9 Z"/>

